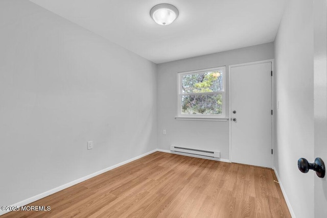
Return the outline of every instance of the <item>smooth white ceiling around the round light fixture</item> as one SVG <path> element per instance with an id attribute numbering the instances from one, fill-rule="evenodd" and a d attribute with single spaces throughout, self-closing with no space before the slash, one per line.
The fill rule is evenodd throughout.
<path id="1" fill-rule="evenodd" d="M 154 62 L 164 63 L 272 42 L 285 0 L 30 0 Z M 169 26 L 150 17 L 174 5 Z"/>

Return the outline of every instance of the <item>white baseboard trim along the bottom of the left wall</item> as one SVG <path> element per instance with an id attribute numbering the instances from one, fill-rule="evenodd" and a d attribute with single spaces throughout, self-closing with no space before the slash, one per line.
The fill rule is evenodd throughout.
<path id="1" fill-rule="evenodd" d="M 74 181 L 72 181 L 72 182 L 68 182 L 68 183 L 66 183 L 66 184 L 64 184 L 64 185 L 60 185 L 59 187 L 53 188 L 53 189 L 51 189 L 51 190 L 49 190 L 49 191 L 45 191 L 45 192 L 43 192 L 43 193 L 40 193 L 39 195 L 33 196 L 33 197 L 31 197 L 31 198 L 28 198 L 28 199 L 23 200 L 23 201 L 20 201 L 20 202 L 18 202 L 18 203 L 12 204 L 12 205 L 10 205 L 10 206 L 11 206 L 11 207 L 12 207 L 12 206 L 16 206 L 16 207 L 25 206 L 25 205 L 27 205 L 27 204 L 30 204 L 30 203 L 35 202 L 35 201 L 37 201 L 37 200 L 40 200 L 40 199 L 42 199 L 42 198 L 44 198 L 44 197 L 50 196 L 50 195 L 52 195 L 53 193 L 56 193 L 56 192 L 58 192 L 58 191 L 61 191 L 61 190 L 65 189 L 65 188 L 71 187 L 71 186 L 76 185 L 76 184 L 78 184 L 78 183 L 80 183 L 80 182 L 83 182 L 83 181 L 85 181 L 85 180 L 87 180 L 87 179 L 90 179 L 90 178 L 92 178 L 92 177 L 98 176 L 98 175 L 103 174 L 103 173 L 105 173 L 105 172 L 107 172 L 107 171 L 110 171 L 111 169 L 117 168 L 117 167 L 119 167 L 119 166 L 121 166 L 121 165 L 124 165 L 124 164 L 126 164 L 126 163 L 132 162 L 132 161 L 134 161 L 134 160 L 137 160 L 137 159 L 139 159 L 139 158 L 141 158 L 141 157 L 144 157 L 144 156 L 147 156 L 147 155 L 149 155 L 149 154 L 152 154 L 152 153 L 154 153 L 154 152 L 156 152 L 156 151 L 157 151 L 157 149 L 155 149 L 155 150 L 153 150 L 153 151 L 150 151 L 150 152 L 147 152 L 147 153 L 145 153 L 145 154 L 139 155 L 139 156 L 137 156 L 137 157 L 131 158 L 131 159 L 129 159 L 129 160 L 123 161 L 123 162 L 121 162 L 121 163 L 115 164 L 115 165 L 113 165 L 113 166 L 109 166 L 108 168 L 102 169 L 101 171 L 98 171 L 98 172 L 96 172 L 96 173 L 92 173 L 92 174 L 90 174 L 90 175 L 84 176 L 84 177 L 79 178 L 79 179 L 77 179 L 77 180 L 74 180 Z M 8 213 L 8 212 L 10 212 L 10 211 L 3 211 L 3 210 L 0 210 L 0 216 L 3 215 L 3 214 L 5 214 L 5 213 Z"/>

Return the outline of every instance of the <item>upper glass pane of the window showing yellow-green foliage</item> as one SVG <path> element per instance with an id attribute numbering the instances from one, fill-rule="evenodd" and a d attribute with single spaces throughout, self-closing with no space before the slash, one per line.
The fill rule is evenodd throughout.
<path id="1" fill-rule="evenodd" d="M 201 93 L 223 90 L 222 70 L 182 76 L 182 93 Z"/>

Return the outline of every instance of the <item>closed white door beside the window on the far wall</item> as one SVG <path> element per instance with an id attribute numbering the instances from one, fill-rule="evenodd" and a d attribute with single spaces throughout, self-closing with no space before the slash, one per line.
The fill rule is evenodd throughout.
<path id="1" fill-rule="evenodd" d="M 272 167 L 272 62 L 230 66 L 231 162 Z"/>

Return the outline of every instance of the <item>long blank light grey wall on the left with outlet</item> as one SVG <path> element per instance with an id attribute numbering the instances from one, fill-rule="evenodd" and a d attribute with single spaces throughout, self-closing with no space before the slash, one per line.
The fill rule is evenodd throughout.
<path id="1" fill-rule="evenodd" d="M 154 63 L 24 0 L 0 48 L 0 205 L 156 149 Z"/>

